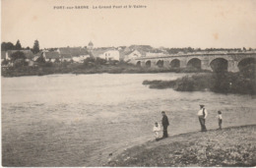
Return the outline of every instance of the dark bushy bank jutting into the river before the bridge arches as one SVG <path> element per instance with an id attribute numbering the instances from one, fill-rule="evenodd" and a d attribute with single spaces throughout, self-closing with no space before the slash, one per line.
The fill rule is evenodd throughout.
<path id="1" fill-rule="evenodd" d="M 255 67 L 238 73 L 216 72 L 186 76 L 175 81 L 144 81 L 150 88 L 173 88 L 178 91 L 211 90 L 220 93 L 256 94 Z"/>

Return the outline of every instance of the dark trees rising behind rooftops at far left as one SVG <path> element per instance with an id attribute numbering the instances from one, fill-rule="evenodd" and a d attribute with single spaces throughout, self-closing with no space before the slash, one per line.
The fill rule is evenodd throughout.
<path id="1" fill-rule="evenodd" d="M 19 39 L 17 40 L 15 45 L 12 42 L 2 42 L 1 51 L 8 51 L 8 50 L 32 50 L 32 53 L 36 54 L 40 51 L 39 41 L 37 39 L 34 40 L 32 48 L 30 48 L 29 46 L 26 48 L 23 48 Z"/>

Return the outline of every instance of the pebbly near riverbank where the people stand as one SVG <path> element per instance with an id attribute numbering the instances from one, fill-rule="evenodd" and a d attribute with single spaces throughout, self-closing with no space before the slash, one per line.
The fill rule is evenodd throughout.
<path id="1" fill-rule="evenodd" d="M 255 141 L 256 125 L 182 134 L 129 148 L 107 166 L 255 166 Z"/>

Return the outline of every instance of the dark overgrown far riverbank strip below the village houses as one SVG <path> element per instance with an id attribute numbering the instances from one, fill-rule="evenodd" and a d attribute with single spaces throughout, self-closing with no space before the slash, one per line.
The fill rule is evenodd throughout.
<path id="1" fill-rule="evenodd" d="M 3 77 L 22 77 L 22 76 L 45 76 L 52 74 L 154 74 L 154 73 L 200 73 L 208 72 L 198 69 L 179 69 L 179 68 L 142 68 L 127 63 L 109 65 L 85 65 L 77 63 L 46 63 L 37 67 L 10 67 L 2 68 Z"/>

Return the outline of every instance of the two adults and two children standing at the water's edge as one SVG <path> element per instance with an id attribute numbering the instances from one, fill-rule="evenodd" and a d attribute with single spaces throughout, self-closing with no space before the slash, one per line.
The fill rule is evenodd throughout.
<path id="1" fill-rule="evenodd" d="M 161 111 L 162 119 L 161 119 L 161 125 L 162 125 L 162 137 L 160 137 L 160 124 L 158 122 L 155 123 L 155 126 L 153 128 L 153 132 L 155 133 L 156 140 L 161 140 L 168 137 L 167 133 L 167 127 L 169 126 L 168 117 L 166 116 L 164 111 Z M 208 115 L 208 112 L 205 108 L 205 105 L 200 105 L 200 110 L 197 113 L 199 123 L 201 126 L 201 132 L 207 132 L 206 129 L 206 118 Z M 222 117 L 222 111 L 218 111 L 218 121 L 219 121 L 219 129 L 222 130 L 222 124 L 223 124 L 223 117 Z"/>

